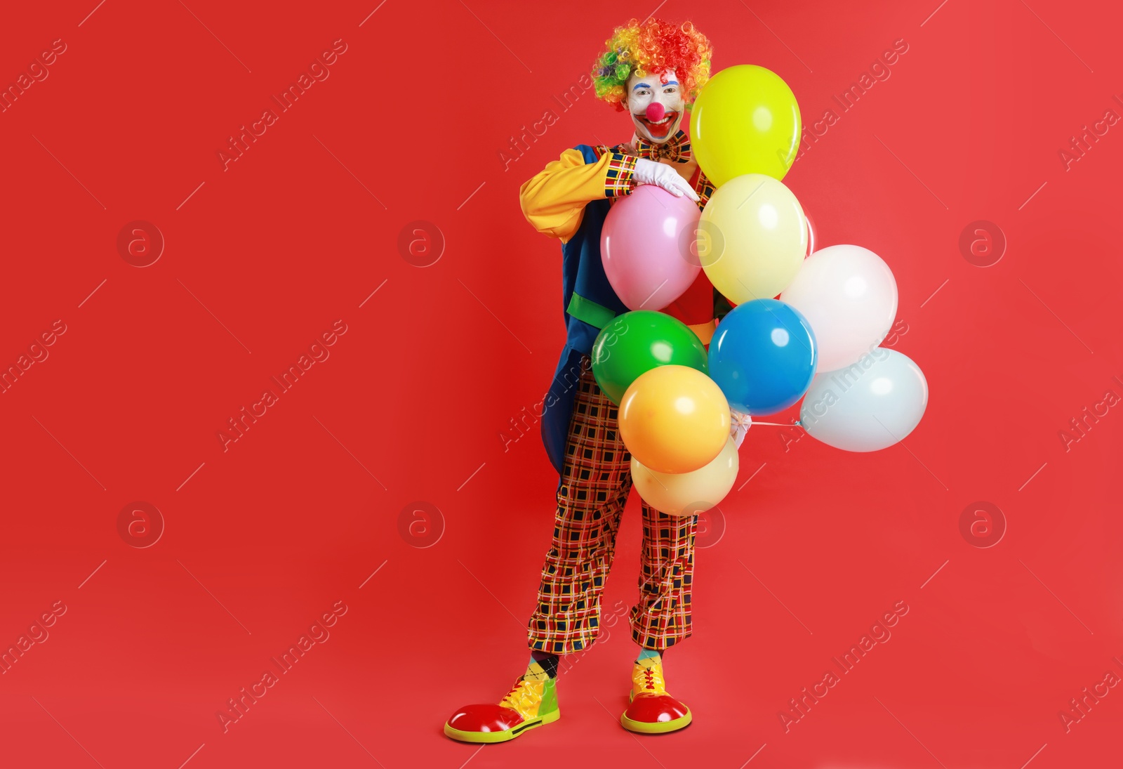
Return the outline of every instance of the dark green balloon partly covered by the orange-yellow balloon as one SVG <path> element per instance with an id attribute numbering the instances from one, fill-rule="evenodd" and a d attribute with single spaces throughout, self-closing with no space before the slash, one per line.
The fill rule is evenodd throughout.
<path id="1" fill-rule="evenodd" d="M 656 310 L 632 310 L 612 318 L 593 342 L 592 361 L 596 383 L 617 406 L 641 373 L 657 367 L 688 365 L 710 373 L 697 334 Z"/>

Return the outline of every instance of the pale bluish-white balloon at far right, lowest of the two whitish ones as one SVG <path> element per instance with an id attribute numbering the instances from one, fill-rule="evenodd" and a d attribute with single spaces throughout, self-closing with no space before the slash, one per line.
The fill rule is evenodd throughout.
<path id="1" fill-rule="evenodd" d="M 896 350 L 875 347 L 844 369 L 815 374 L 800 424 L 836 449 L 878 451 L 904 440 L 926 406 L 920 367 Z"/>

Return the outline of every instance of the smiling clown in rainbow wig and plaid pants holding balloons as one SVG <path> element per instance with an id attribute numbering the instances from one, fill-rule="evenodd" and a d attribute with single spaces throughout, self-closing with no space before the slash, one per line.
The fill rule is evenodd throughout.
<path id="1" fill-rule="evenodd" d="M 468 705 L 454 713 L 445 733 L 455 740 L 503 742 L 557 721 L 559 655 L 587 649 L 600 630 L 601 592 L 632 486 L 617 407 L 597 387 L 590 362 L 597 332 L 628 311 L 601 264 L 601 227 L 611 203 L 638 184 L 656 184 L 705 205 L 713 186 L 692 159 L 681 125 L 709 80 L 711 55 L 709 40 L 690 22 L 632 19 L 618 27 L 592 75 L 597 98 L 628 112 L 631 139 L 566 150 L 519 191 L 527 220 L 562 243 L 566 344 L 542 415 L 542 440 L 560 476 L 557 512 L 528 623 L 527 670 L 497 705 Z M 709 344 L 715 305 L 720 314 L 729 309 L 700 272 L 663 311 Z M 734 429 L 739 443 L 745 420 L 734 418 Z M 639 653 L 620 722 L 632 732 L 673 732 L 688 725 L 692 714 L 667 693 L 663 652 L 691 635 L 697 516 L 669 516 L 647 503 L 641 508 L 640 597 L 629 614 Z"/>

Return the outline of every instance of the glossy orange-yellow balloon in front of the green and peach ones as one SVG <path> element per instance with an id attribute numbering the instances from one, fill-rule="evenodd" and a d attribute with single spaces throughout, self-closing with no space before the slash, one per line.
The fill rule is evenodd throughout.
<path id="1" fill-rule="evenodd" d="M 618 411 L 628 451 L 657 472 L 693 472 L 713 461 L 729 437 L 729 401 L 706 374 L 687 365 L 645 371 L 624 390 Z"/>

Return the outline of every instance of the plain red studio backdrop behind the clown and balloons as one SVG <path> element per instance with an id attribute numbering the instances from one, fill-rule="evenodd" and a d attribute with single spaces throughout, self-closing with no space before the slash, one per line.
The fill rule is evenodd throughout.
<path id="1" fill-rule="evenodd" d="M 537 425 L 501 437 L 563 342 L 558 244 L 517 191 L 566 147 L 630 137 L 591 93 L 554 97 L 654 8 L 9 3 L 0 82 L 66 49 L 0 115 L 0 364 L 66 332 L 0 396 L 0 645 L 67 608 L 0 676 L 0 762 L 1117 765 L 1123 689 L 1068 732 L 1058 713 L 1123 676 L 1123 407 L 1067 447 L 1059 431 L 1123 395 L 1123 125 L 1067 170 L 1058 152 L 1123 114 L 1120 18 L 937 4 L 659 7 L 711 37 L 715 69 L 779 73 L 806 124 L 836 110 L 785 183 L 821 245 L 893 269 L 894 346 L 931 399 L 873 454 L 749 433 L 724 534 L 697 551 L 695 634 L 667 654 L 690 729 L 620 729 L 634 646 L 618 625 L 563 676 L 557 725 L 481 750 L 440 726 L 526 663 L 557 482 Z M 228 137 L 340 38 L 330 76 L 223 170 Z M 842 111 L 832 97 L 898 39 L 888 80 Z M 989 268 L 959 248 L 979 219 L 1008 242 Z M 166 241 L 144 269 L 117 250 L 134 220 Z M 431 266 L 399 251 L 413 220 L 445 241 Z M 223 451 L 227 419 L 337 319 L 330 358 Z M 166 527 L 149 548 L 118 533 L 137 500 Z M 979 500 L 1005 516 L 993 548 L 960 533 Z M 411 534 L 418 501 L 433 507 Z M 637 513 L 633 495 L 606 614 L 636 595 Z M 441 537 L 419 548 L 424 526 Z M 223 733 L 227 699 L 339 600 L 330 639 Z M 785 732 L 777 712 L 898 600 L 892 639 Z"/>

